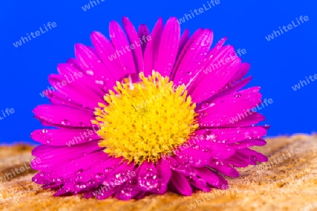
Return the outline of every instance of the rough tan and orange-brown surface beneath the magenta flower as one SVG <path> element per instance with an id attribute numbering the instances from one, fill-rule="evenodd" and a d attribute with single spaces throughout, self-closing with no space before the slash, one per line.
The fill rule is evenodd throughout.
<path id="1" fill-rule="evenodd" d="M 317 210 L 317 135 L 297 134 L 266 139 L 256 149 L 268 163 L 238 169 L 240 177 L 227 178 L 230 188 L 190 197 L 167 193 L 142 200 L 85 199 L 82 195 L 53 197 L 31 181 L 31 146 L 0 147 L 0 177 L 11 169 L 25 171 L 0 182 L 0 210 Z M 292 151 L 291 151 L 292 150 Z M 194 208 L 194 205 L 196 208 Z"/>

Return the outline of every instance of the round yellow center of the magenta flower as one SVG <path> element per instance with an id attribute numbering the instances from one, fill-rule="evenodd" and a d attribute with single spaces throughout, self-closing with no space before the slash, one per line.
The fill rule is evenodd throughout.
<path id="1" fill-rule="evenodd" d="M 173 87 L 168 77 L 139 73 L 141 82 L 117 82 L 115 92 L 104 96 L 93 124 L 99 126 L 99 146 L 116 158 L 140 164 L 156 162 L 187 141 L 198 128 L 196 107 L 185 85 Z"/>

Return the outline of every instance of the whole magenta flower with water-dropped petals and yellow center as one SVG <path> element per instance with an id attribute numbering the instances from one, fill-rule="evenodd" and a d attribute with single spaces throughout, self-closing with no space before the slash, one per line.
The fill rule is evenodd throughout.
<path id="1" fill-rule="evenodd" d="M 264 117 L 250 112 L 261 103 L 260 88 L 240 91 L 251 79 L 242 79 L 249 64 L 225 39 L 211 49 L 211 30 L 180 36 L 176 18 L 165 26 L 160 18 L 151 34 L 128 18 L 123 27 L 110 23 L 111 41 L 92 32 L 94 48 L 76 44 L 76 59 L 49 76 L 53 86 L 71 83 L 33 110 L 50 127 L 32 132 L 42 143 L 32 151 L 40 160 L 32 163 L 39 170 L 33 181 L 54 196 L 190 196 L 228 188 L 224 176 L 238 177 L 235 167 L 267 161 L 249 149 L 266 144 L 267 128 L 254 126 Z"/>

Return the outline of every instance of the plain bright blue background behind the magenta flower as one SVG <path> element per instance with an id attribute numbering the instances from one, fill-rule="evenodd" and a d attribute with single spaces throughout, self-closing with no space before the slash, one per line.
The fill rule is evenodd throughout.
<path id="1" fill-rule="evenodd" d="M 108 37 L 108 23 L 128 16 L 135 26 L 154 27 L 161 16 L 182 18 L 207 1 L 110 1 L 82 10 L 89 4 L 80 1 L 2 1 L 0 6 L 0 110 L 13 108 L 15 113 L 0 120 L 0 143 L 27 141 L 30 132 L 42 128 L 33 118 L 32 109 L 48 103 L 39 93 L 49 85 L 47 77 L 56 73 L 56 65 L 74 57 L 74 44 L 91 45 L 89 34 L 97 30 Z M 228 37 L 226 44 L 246 49 L 244 62 L 251 63 L 248 75 L 251 86 L 261 86 L 263 98 L 273 103 L 260 110 L 271 124 L 268 136 L 316 132 L 317 82 L 294 91 L 291 87 L 316 68 L 316 3 L 302 1 L 224 1 L 195 18 L 182 23 L 191 34 L 199 27 L 211 28 L 214 44 Z M 271 41 L 265 39 L 273 30 L 308 15 L 309 21 Z M 26 33 L 35 32 L 48 22 L 56 27 L 15 48 Z M 295 22 L 296 23 L 296 22 Z M 213 44 L 213 46 L 214 46 Z M 2 116 L 1 116 L 2 117 Z"/>

